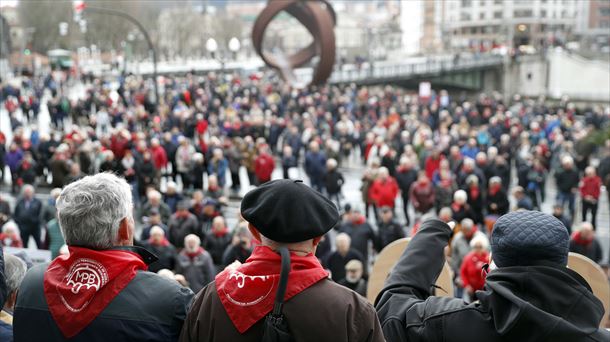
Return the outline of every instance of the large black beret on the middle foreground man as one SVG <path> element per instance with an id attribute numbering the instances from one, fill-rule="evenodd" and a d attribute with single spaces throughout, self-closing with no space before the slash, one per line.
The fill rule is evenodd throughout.
<path id="1" fill-rule="evenodd" d="M 248 192 L 241 215 L 265 237 L 284 243 L 326 234 L 339 221 L 333 202 L 300 180 L 280 179 Z"/>

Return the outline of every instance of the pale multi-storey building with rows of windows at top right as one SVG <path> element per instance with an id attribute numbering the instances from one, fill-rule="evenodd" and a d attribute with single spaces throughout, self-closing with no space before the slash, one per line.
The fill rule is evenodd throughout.
<path id="1" fill-rule="evenodd" d="M 444 38 L 449 49 L 490 50 L 561 45 L 576 33 L 581 0 L 447 0 Z M 580 16 L 579 16 L 580 15 Z"/>

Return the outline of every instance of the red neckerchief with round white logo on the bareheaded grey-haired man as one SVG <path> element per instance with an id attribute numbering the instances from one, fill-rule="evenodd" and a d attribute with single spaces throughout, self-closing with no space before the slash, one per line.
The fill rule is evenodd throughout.
<path id="1" fill-rule="evenodd" d="M 68 247 L 70 255 L 53 260 L 44 273 L 44 295 L 65 338 L 89 325 L 136 276 L 148 267 L 125 250 Z"/>

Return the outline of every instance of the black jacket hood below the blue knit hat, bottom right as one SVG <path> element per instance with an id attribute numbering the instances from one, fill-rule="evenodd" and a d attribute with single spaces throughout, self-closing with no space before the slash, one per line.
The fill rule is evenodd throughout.
<path id="1" fill-rule="evenodd" d="M 503 267 L 490 272 L 476 294 L 496 331 L 510 341 L 608 341 L 598 327 L 604 315 L 587 282 L 568 268 Z M 602 335 L 604 334 L 604 335 Z M 607 336 L 605 335 L 607 334 Z"/>

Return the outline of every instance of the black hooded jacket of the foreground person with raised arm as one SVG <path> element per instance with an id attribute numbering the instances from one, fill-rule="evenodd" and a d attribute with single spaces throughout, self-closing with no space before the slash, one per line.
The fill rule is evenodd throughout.
<path id="1" fill-rule="evenodd" d="M 568 268 L 503 267 L 477 301 L 431 296 L 451 230 L 426 221 L 392 270 L 375 307 L 391 341 L 608 341 L 602 303 Z"/>

